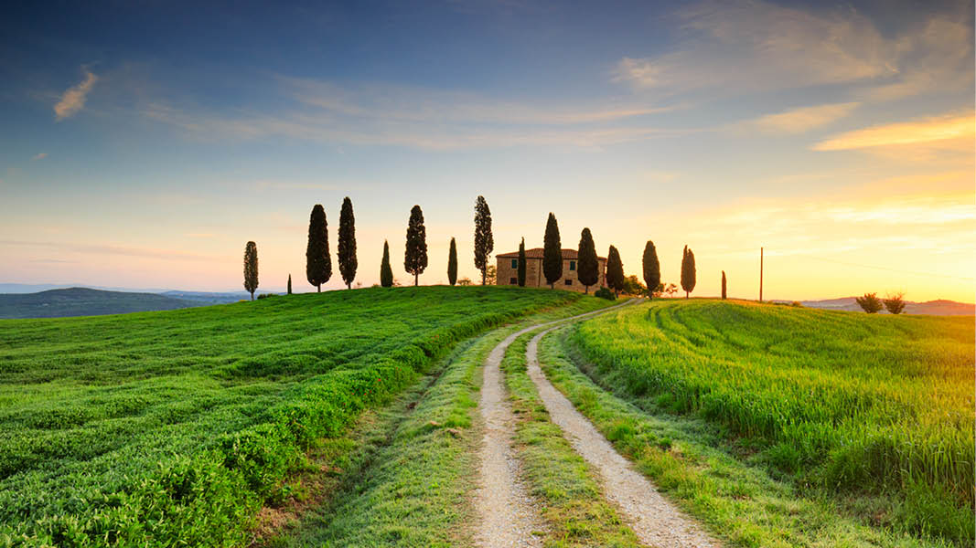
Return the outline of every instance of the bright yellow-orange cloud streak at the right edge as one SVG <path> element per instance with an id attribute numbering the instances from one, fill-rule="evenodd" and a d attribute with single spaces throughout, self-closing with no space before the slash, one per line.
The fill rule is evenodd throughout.
<path id="1" fill-rule="evenodd" d="M 976 132 L 973 113 L 885 124 L 846 132 L 813 145 L 814 150 L 848 150 L 972 138 Z"/>

